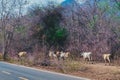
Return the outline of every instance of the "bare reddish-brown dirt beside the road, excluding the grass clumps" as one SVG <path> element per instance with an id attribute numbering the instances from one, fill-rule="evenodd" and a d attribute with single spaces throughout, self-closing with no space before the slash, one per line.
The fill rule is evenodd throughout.
<path id="1" fill-rule="evenodd" d="M 67 72 L 66 74 L 89 78 L 91 80 L 120 80 L 120 66 L 110 66 L 104 63 L 84 64 L 87 67 L 83 71 Z M 57 71 L 54 67 L 37 67 L 47 70 Z"/>

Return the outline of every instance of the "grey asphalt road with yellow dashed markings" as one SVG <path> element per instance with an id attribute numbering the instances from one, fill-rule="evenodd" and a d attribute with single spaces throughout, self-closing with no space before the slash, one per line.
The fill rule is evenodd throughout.
<path id="1" fill-rule="evenodd" d="M 0 62 L 0 80 L 90 80 L 56 72 Z"/>

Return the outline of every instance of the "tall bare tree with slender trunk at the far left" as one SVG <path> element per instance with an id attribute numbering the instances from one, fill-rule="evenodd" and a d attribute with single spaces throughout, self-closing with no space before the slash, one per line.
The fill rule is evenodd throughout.
<path id="1" fill-rule="evenodd" d="M 13 38 L 14 29 L 19 23 L 19 17 L 22 15 L 21 12 L 25 4 L 26 0 L 0 0 L 0 23 L 4 60 L 7 59 L 8 48 Z"/>

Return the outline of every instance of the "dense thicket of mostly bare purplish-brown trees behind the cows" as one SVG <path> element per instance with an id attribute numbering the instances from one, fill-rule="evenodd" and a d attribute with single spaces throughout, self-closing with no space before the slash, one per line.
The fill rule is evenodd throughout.
<path id="1" fill-rule="evenodd" d="M 32 6 L 25 15 L 25 0 L 7 1 L 0 2 L 0 50 L 4 59 L 19 51 L 46 58 L 49 50 L 70 51 L 75 57 L 83 51 L 120 56 L 117 0 L 86 0 L 83 4 L 71 0 L 65 4 L 66 0 L 61 5 Z"/>

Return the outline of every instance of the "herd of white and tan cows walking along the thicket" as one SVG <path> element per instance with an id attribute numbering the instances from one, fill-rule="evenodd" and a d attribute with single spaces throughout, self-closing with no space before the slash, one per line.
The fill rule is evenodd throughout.
<path id="1" fill-rule="evenodd" d="M 19 52 L 18 53 L 18 58 L 21 58 L 21 57 L 25 57 L 27 55 L 27 52 Z M 66 58 L 68 58 L 70 55 L 70 52 L 63 52 L 63 51 L 49 51 L 49 54 L 48 56 L 51 58 L 51 59 L 58 59 L 58 60 L 65 60 Z M 80 55 L 83 57 L 83 59 L 86 61 L 92 61 L 92 52 L 83 52 L 83 53 L 80 53 Z M 105 63 L 110 63 L 111 60 L 110 60 L 110 56 L 111 54 L 109 53 L 106 53 L 106 54 L 103 54 L 103 59 L 104 59 L 104 62 Z"/>

